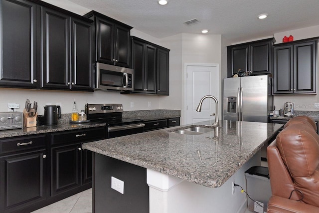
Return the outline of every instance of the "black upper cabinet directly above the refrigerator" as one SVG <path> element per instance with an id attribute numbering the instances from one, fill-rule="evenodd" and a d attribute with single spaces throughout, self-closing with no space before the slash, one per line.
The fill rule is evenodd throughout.
<path id="1" fill-rule="evenodd" d="M 272 74 L 274 38 L 227 46 L 227 77 L 239 69 L 252 71 L 251 75 Z"/>

